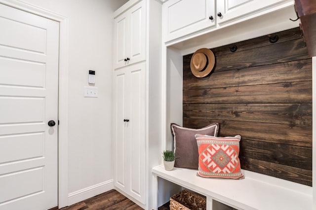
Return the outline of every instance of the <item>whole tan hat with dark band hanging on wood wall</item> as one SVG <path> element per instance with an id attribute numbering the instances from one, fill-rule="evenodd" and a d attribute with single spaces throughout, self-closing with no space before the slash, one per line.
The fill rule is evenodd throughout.
<path id="1" fill-rule="evenodd" d="M 214 53 L 207 48 L 198 49 L 191 58 L 191 71 L 196 77 L 207 76 L 214 68 Z"/>

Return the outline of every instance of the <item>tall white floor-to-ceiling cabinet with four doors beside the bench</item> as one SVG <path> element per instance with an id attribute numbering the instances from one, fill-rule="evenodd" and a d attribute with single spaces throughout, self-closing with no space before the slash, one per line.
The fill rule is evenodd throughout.
<path id="1" fill-rule="evenodd" d="M 129 0 L 114 14 L 114 186 L 144 209 L 161 151 L 161 13 L 160 0 Z"/>

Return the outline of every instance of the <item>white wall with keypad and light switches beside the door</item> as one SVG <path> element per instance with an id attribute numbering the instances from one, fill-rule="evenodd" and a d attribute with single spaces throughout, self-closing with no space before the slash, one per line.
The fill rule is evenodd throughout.
<path id="1" fill-rule="evenodd" d="M 113 179 L 112 24 L 127 0 L 22 1 L 69 20 L 68 194 L 79 194 L 71 204 L 87 195 L 80 197 L 83 189 Z M 98 98 L 83 98 L 88 70 L 96 71 Z"/>

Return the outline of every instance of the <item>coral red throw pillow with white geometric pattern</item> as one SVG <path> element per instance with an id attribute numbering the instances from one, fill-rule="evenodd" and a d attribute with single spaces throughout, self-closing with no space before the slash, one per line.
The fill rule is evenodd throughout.
<path id="1" fill-rule="evenodd" d="M 203 177 L 240 178 L 239 135 L 212 137 L 196 134 L 198 172 Z"/>

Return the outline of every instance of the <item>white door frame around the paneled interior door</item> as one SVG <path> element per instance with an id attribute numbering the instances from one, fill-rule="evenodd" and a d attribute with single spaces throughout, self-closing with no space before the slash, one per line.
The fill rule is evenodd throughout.
<path id="1" fill-rule="evenodd" d="M 0 3 L 59 22 L 58 208 L 68 206 L 68 18 L 18 0 Z"/>

